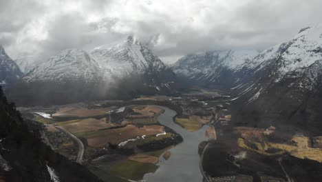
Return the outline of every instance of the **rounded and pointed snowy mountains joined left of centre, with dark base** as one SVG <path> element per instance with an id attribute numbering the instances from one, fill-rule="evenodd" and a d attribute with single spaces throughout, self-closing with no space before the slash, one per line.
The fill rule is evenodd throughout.
<path id="1" fill-rule="evenodd" d="M 18 104 L 50 105 L 173 94 L 175 84 L 172 70 L 142 43 L 129 37 L 111 48 L 96 48 L 92 54 L 63 50 L 27 72 L 7 94 Z"/>

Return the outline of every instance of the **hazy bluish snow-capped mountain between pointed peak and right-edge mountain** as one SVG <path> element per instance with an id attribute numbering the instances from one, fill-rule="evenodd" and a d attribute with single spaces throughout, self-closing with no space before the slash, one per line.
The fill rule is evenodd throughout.
<path id="1" fill-rule="evenodd" d="M 241 68 L 259 52 L 256 50 L 223 50 L 188 54 L 172 65 L 178 77 L 189 83 L 230 84 Z"/>

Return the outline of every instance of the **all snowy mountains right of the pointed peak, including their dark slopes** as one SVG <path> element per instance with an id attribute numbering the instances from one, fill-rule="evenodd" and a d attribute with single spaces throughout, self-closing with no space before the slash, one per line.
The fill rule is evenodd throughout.
<path id="1" fill-rule="evenodd" d="M 189 54 L 172 68 L 186 84 L 231 92 L 236 122 L 262 127 L 292 125 L 319 133 L 321 65 L 322 26 L 315 26 L 303 28 L 290 41 L 263 52 Z"/>

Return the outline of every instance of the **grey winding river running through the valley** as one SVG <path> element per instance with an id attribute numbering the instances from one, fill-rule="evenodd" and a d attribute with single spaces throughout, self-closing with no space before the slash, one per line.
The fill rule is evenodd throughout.
<path id="1" fill-rule="evenodd" d="M 196 132 L 188 132 L 173 122 L 173 117 L 176 114 L 175 111 L 161 106 L 158 107 L 164 109 L 164 113 L 158 117 L 159 122 L 178 132 L 182 136 L 183 142 L 169 150 L 171 152 L 170 159 L 164 160 L 161 156 L 157 163 L 160 166 L 158 170 L 153 174 L 145 174 L 144 180 L 148 182 L 202 182 L 203 176 L 199 167 L 200 156 L 198 154 L 198 145 L 202 141 L 206 141 L 205 131 L 208 126 L 204 125 L 204 127 Z"/>

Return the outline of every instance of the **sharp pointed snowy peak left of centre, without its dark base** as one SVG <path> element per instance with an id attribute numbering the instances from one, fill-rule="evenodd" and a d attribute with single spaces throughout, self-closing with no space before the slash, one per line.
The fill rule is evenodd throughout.
<path id="1" fill-rule="evenodd" d="M 91 54 L 98 61 L 100 68 L 111 72 L 115 77 L 140 74 L 144 83 L 157 90 L 169 90 L 175 81 L 172 70 L 146 46 L 133 37 L 114 46 L 95 48 Z"/>

